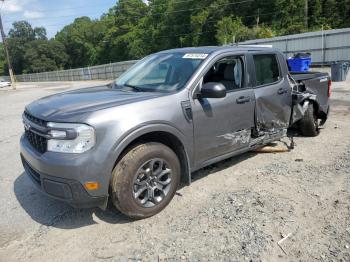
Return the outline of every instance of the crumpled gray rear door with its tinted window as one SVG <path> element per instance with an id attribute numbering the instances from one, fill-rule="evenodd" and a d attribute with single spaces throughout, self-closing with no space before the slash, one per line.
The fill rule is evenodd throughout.
<path id="1" fill-rule="evenodd" d="M 292 90 L 283 56 L 275 53 L 253 53 L 251 59 L 255 71 L 258 131 L 288 128 L 292 111 Z"/>

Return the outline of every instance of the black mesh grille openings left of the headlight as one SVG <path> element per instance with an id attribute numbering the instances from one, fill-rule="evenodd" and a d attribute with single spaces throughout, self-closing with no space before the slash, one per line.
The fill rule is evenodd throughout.
<path id="1" fill-rule="evenodd" d="M 33 122 L 33 123 L 35 123 L 37 125 L 43 126 L 43 127 L 46 126 L 46 121 L 41 120 L 41 119 L 39 119 L 37 117 L 34 117 L 31 114 L 29 114 L 28 112 L 26 112 L 26 111 L 24 112 L 24 115 L 29 121 L 31 121 L 31 122 Z M 25 129 L 24 132 L 25 132 L 25 136 L 28 139 L 29 143 L 39 153 L 43 154 L 43 153 L 46 152 L 46 150 L 47 150 L 47 139 L 45 137 L 34 133 L 30 129 L 29 130 Z"/>

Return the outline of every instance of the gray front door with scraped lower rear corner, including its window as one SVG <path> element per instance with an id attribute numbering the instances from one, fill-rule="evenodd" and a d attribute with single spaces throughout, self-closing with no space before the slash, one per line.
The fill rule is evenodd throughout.
<path id="1" fill-rule="evenodd" d="M 218 60 L 203 83 L 220 82 L 224 98 L 195 98 L 193 124 L 196 163 L 248 147 L 254 127 L 254 91 L 247 86 L 244 56 Z"/>

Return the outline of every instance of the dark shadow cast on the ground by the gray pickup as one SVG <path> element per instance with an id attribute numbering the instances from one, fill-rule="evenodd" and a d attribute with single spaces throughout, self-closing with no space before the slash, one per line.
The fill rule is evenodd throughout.
<path id="1" fill-rule="evenodd" d="M 254 152 L 248 152 L 200 169 L 192 174 L 192 183 L 196 183 L 201 178 L 229 168 L 255 155 Z M 185 185 L 181 185 L 179 190 L 183 187 Z M 105 211 L 99 208 L 76 209 L 64 202 L 52 199 L 38 190 L 25 172 L 15 180 L 14 193 L 26 213 L 34 221 L 44 226 L 75 229 L 97 224 L 99 220 L 109 224 L 134 222 L 133 219 L 121 214 L 111 204 Z"/>

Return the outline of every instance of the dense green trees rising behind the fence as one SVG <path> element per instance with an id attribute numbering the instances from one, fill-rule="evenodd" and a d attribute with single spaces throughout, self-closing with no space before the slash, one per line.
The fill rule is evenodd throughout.
<path id="1" fill-rule="evenodd" d="M 350 0 L 149 0 L 147 4 L 119 0 L 100 19 L 77 18 L 51 40 L 45 28 L 15 22 L 8 43 L 14 71 L 20 74 L 139 59 L 164 49 L 228 44 L 322 27 L 350 27 Z M 0 70 L 6 68 L 0 52 Z"/>

